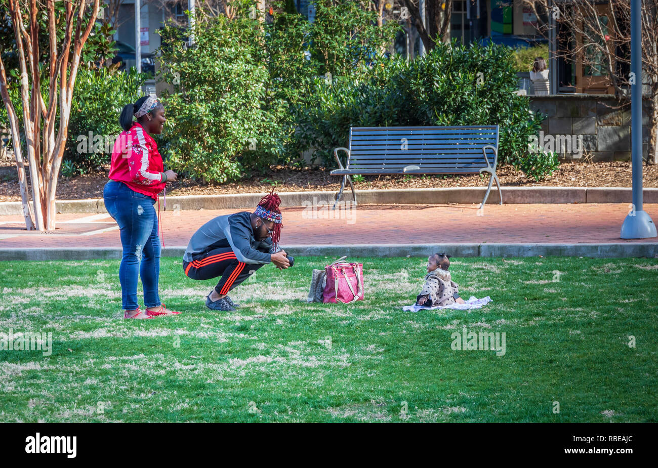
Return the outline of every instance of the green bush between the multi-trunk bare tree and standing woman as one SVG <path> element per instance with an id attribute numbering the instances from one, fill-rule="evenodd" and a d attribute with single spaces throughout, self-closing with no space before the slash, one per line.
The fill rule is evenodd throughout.
<path id="1" fill-rule="evenodd" d="M 122 131 L 119 114 L 124 105 L 142 95 L 144 81 L 145 75 L 134 69 L 80 67 L 71 102 L 64 175 L 93 172 L 110 162 L 114 140 Z"/>

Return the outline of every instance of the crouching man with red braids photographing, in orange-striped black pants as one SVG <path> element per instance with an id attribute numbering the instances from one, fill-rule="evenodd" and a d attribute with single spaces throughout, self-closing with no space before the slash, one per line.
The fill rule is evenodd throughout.
<path id="1" fill-rule="evenodd" d="M 191 279 L 219 277 L 206 296 L 211 310 L 236 310 L 228 292 L 240 285 L 261 266 L 272 262 L 278 269 L 290 261 L 278 241 L 283 227 L 276 193 L 261 199 L 253 213 L 218 216 L 194 233 L 183 256 L 183 269 Z"/>

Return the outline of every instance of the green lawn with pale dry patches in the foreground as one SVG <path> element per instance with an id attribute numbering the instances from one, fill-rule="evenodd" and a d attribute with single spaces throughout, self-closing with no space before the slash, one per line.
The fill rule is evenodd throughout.
<path id="1" fill-rule="evenodd" d="M 53 333 L 51 356 L 0 351 L 0 421 L 658 421 L 658 259 L 453 259 L 493 302 L 417 314 L 424 258 L 361 261 L 357 304 L 303 302 L 328 260 L 299 257 L 226 313 L 163 258 L 183 314 L 149 321 L 121 318 L 118 261 L 0 262 L 0 333 Z M 452 350 L 463 326 L 505 355 Z"/>

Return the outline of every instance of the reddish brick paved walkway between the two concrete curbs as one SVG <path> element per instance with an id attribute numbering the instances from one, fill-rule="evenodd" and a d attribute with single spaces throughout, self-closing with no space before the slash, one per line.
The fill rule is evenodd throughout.
<path id="1" fill-rule="evenodd" d="M 284 208 L 282 246 L 427 243 L 628 243 L 619 231 L 628 204 L 368 205 L 354 210 Z M 644 210 L 658 221 L 658 204 Z M 239 210 L 163 212 L 165 246 L 186 246 L 207 220 Z M 323 219 L 322 216 L 335 216 Z M 0 248 L 120 246 L 103 214 L 61 214 L 54 233 L 24 229 L 21 216 L 0 216 Z"/>

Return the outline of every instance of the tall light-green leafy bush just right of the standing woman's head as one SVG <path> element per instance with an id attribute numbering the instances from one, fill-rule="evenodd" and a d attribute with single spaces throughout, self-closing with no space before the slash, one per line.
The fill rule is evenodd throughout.
<path id="1" fill-rule="evenodd" d="M 240 178 L 243 162 L 265 168 L 282 152 L 278 122 L 266 107 L 263 33 L 246 16 L 220 15 L 195 29 L 195 46 L 167 26 L 163 99 L 173 129 L 163 135 L 169 168 L 204 181 Z"/>

